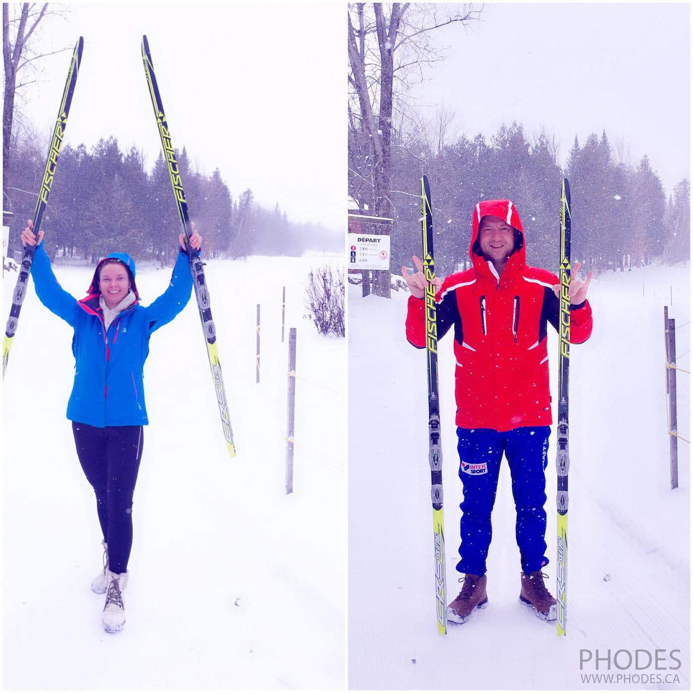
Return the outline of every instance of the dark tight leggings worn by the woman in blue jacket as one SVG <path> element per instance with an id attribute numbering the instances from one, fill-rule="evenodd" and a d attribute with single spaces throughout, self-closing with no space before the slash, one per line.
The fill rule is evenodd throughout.
<path id="1" fill-rule="evenodd" d="M 73 421 L 72 432 L 80 464 L 96 493 L 109 569 L 125 572 L 132 548 L 132 494 L 142 457 L 142 426 L 96 428 Z"/>

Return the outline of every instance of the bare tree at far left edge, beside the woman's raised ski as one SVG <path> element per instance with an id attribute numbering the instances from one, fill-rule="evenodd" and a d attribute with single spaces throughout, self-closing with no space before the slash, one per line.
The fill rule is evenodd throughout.
<path id="1" fill-rule="evenodd" d="M 55 7 L 53 3 L 3 3 L 2 6 L 2 52 L 5 67 L 2 119 L 3 207 L 7 200 L 8 160 L 12 124 L 15 122 L 15 99 L 24 87 L 37 82 L 36 61 L 69 50 L 67 47 L 44 51 L 44 44 L 38 42 L 37 28 L 46 17 L 62 16 L 65 12 L 54 9 Z M 34 48 L 37 43 L 42 49 Z"/>

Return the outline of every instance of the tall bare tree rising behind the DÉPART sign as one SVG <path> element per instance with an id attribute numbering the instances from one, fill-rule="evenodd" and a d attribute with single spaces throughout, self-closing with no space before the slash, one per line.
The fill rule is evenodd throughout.
<path id="1" fill-rule="evenodd" d="M 394 107 L 406 107 L 407 90 L 446 49 L 433 34 L 448 24 L 464 26 L 480 15 L 471 5 L 366 3 L 349 5 L 349 170 L 351 195 L 360 209 L 391 218 L 391 146 Z M 404 110 L 404 108 L 403 108 Z M 441 122 L 444 134 L 447 125 Z M 389 272 L 376 273 L 376 294 L 389 297 Z"/>

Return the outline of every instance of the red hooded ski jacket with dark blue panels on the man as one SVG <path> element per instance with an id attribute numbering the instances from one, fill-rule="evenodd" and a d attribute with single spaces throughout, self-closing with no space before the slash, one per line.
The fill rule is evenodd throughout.
<path id="1" fill-rule="evenodd" d="M 492 215 L 518 229 L 522 244 L 500 275 L 474 252 L 482 217 Z M 552 272 L 525 264 L 525 233 L 510 200 L 484 200 L 472 219 L 473 267 L 450 274 L 436 295 L 438 337 L 455 329 L 455 423 L 460 428 L 507 431 L 551 422 L 547 324 L 558 329 L 559 299 Z M 409 299 L 407 340 L 426 347 L 424 299 Z M 570 306 L 570 342 L 592 333 L 588 301 Z"/>

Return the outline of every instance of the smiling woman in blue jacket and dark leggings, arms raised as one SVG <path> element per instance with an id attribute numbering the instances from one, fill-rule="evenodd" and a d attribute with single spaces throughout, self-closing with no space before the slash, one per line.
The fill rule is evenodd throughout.
<path id="1" fill-rule="evenodd" d="M 193 281 L 181 249 L 166 291 L 142 306 L 132 258 L 112 253 L 98 263 L 87 296 L 78 301 L 55 279 L 43 235 L 39 231 L 31 275 L 42 304 L 74 329 L 75 382 L 67 418 L 80 464 L 96 493 L 105 560 L 91 589 L 106 594 L 103 624 L 113 633 L 125 624 L 122 592 L 132 547 L 132 494 L 142 456 L 142 427 L 149 423 L 142 373 L 149 338 L 183 310 Z M 36 244 L 31 220 L 21 240 Z M 179 240 L 183 247 L 183 234 Z M 202 238 L 194 225 L 190 244 L 199 252 Z"/>

